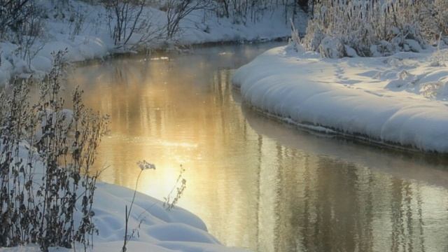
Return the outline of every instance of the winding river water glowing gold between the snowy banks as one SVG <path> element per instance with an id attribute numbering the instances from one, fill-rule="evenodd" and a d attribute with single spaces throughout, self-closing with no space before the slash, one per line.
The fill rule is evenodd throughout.
<path id="1" fill-rule="evenodd" d="M 305 132 L 252 111 L 232 73 L 281 43 L 219 45 L 80 66 L 69 87 L 111 116 L 102 181 L 163 200 L 180 166 L 192 211 L 252 251 L 448 251 L 447 160 Z M 68 88 L 70 90 L 71 88 Z"/>

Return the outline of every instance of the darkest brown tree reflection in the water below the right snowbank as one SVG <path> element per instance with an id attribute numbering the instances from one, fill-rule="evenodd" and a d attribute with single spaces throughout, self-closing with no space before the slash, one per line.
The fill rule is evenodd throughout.
<path id="1" fill-rule="evenodd" d="M 300 208 L 297 209 L 297 215 L 307 225 L 303 229 L 300 225 L 297 228 L 307 241 L 305 246 L 309 251 L 353 251 L 361 245 L 358 241 L 362 244 L 370 242 L 368 236 L 358 237 L 371 228 L 371 219 L 361 210 L 370 211 L 370 202 L 368 195 L 365 202 L 358 199 L 357 169 L 332 161 L 329 163 L 321 158 L 311 161 L 315 167 L 307 168 L 314 173 L 314 179 L 304 181 L 309 188 L 305 197 L 308 210 L 302 214 Z M 363 251 L 370 250 L 365 248 Z"/>

